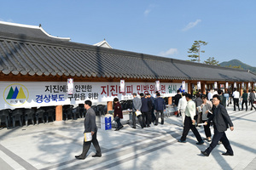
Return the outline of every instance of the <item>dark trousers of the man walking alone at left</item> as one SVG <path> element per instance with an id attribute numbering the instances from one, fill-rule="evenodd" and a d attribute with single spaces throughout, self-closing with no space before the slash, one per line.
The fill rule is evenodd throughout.
<path id="1" fill-rule="evenodd" d="M 83 144 L 83 152 L 81 154 L 82 157 L 86 157 L 88 150 L 90 149 L 90 144 L 93 144 L 96 149 L 96 155 L 102 155 L 101 147 L 97 140 L 97 133 L 92 135 L 92 139 L 89 142 L 84 142 Z"/>

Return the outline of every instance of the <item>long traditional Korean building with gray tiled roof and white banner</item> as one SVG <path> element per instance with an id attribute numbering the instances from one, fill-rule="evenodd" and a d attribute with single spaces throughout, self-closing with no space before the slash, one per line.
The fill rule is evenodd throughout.
<path id="1" fill-rule="evenodd" d="M 199 82 L 202 91 L 214 83 L 241 90 L 256 82 L 250 71 L 113 49 L 106 41 L 94 46 L 71 42 L 50 36 L 41 26 L 3 21 L 0 75 L 0 110 L 57 105 L 61 111 L 61 105 L 78 105 L 85 99 L 131 99 L 132 93 L 154 94 L 155 81 L 160 81 L 164 97 L 175 95 L 182 82 L 189 93 Z M 73 78 L 73 94 L 67 94 L 68 78 Z M 125 80 L 124 92 L 120 80 Z"/>

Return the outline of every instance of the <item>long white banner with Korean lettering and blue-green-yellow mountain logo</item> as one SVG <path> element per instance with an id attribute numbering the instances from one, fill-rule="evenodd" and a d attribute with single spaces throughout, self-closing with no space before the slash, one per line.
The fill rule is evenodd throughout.
<path id="1" fill-rule="evenodd" d="M 174 96 L 182 83 L 160 83 L 162 97 Z M 186 83 L 186 89 L 188 84 Z M 78 105 L 90 99 L 103 103 L 118 97 L 133 99 L 133 93 L 154 94 L 155 82 L 125 82 L 120 92 L 119 82 L 73 82 L 73 94 L 67 94 L 67 82 L 0 82 L 0 110 L 48 105 Z"/>

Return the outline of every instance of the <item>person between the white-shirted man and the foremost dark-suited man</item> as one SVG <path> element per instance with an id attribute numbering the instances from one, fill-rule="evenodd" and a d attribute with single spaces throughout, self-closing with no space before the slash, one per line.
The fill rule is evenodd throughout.
<path id="1" fill-rule="evenodd" d="M 201 105 L 201 111 L 202 111 L 201 119 L 202 119 L 202 122 L 207 122 L 208 117 L 211 116 L 210 111 L 212 110 L 212 102 L 207 100 L 207 97 L 204 95 L 201 97 L 201 99 L 203 101 Z M 211 142 L 212 133 L 210 130 L 210 123 L 208 123 L 207 125 L 204 125 L 204 130 L 207 136 L 207 141 Z"/>

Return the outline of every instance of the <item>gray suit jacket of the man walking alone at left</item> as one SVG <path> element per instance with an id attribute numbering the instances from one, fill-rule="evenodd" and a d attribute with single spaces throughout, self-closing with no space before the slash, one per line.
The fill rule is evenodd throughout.
<path id="1" fill-rule="evenodd" d="M 97 132 L 96 114 L 93 109 L 88 109 L 84 118 L 84 133 Z"/>

